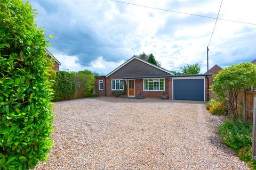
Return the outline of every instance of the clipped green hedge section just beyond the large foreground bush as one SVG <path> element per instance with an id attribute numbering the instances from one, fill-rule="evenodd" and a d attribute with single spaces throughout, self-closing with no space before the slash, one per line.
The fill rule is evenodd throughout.
<path id="1" fill-rule="evenodd" d="M 72 99 L 76 91 L 76 73 L 67 71 L 56 72 L 54 101 Z"/>

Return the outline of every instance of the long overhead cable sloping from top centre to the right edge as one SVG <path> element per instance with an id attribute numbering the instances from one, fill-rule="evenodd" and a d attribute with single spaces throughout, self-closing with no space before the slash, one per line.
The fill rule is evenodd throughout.
<path id="1" fill-rule="evenodd" d="M 191 14 L 191 13 L 187 13 L 187 12 L 180 12 L 180 11 L 173 11 L 173 10 L 166 10 L 166 9 L 163 9 L 163 8 L 157 8 L 157 7 L 152 7 L 152 6 L 133 4 L 133 3 L 123 2 L 123 1 L 117 1 L 117 0 L 108 0 L 108 1 L 113 1 L 113 2 L 118 2 L 118 3 L 123 3 L 123 4 L 129 4 L 129 5 L 134 5 L 134 6 L 140 6 L 140 7 L 146 7 L 146 8 L 151 8 L 151 9 L 154 9 L 154 10 L 161 10 L 161 11 L 174 12 L 174 13 L 179 13 L 179 14 L 186 14 L 186 15 L 192 15 L 192 16 L 199 16 L 199 17 L 203 17 L 203 18 L 217 19 L 217 18 L 211 17 L 211 16 L 198 15 L 198 14 Z M 219 18 L 218 20 L 256 25 L 256 23 L 242 22 L 242 21 L 235 21 L 235 20 L 228 20 L 228 19 L 220 19 L 220 18 Z"/>

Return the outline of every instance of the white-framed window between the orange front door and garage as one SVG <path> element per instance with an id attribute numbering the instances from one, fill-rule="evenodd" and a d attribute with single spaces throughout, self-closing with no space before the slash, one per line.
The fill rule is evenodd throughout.
<path id="1" fill-rule="evenodd" d="M 164 79 L 144 79 L 143 91 L 165 91 Z"/>

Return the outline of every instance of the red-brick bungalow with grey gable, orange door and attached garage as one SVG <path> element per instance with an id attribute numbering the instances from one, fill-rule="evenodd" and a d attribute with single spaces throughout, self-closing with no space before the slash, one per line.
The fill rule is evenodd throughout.
<path id="1" fill-rule="evenodd" d="M 162 67 L 133 56 L 106 76 L 95 77 L 95 93 L 99 96 L 136 98 L 139 95 L 169 99 L 202 100 L 209 98 L 212 73 L 174 75 Z"/>

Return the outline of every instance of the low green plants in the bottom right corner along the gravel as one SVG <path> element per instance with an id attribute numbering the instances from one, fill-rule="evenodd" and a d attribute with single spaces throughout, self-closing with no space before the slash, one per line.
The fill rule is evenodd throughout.
<path id="1" fill-rule="evenodd" d="M 218 128 L 222 141 L 237 152 L 239 158 L 247 162 L 252 169 L 256 169 L 256 161 L 252 154 L 252 123 L 240 120 L 228 120 Z"/>

